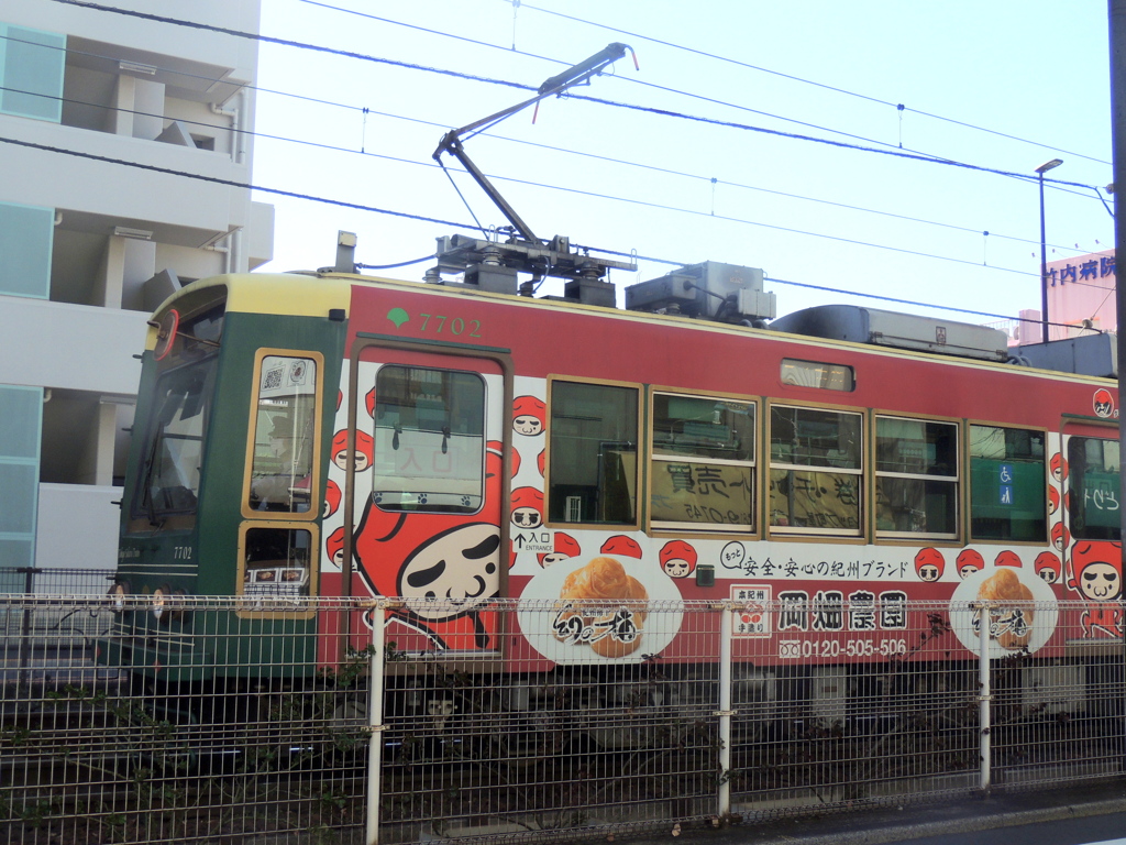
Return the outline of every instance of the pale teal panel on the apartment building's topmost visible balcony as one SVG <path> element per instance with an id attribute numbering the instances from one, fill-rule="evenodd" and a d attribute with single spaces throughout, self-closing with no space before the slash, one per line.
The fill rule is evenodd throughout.
<path id="1" fill-rule="evenodd" d="M 59 123 L 66 36 L 0 24 L 0 112 Z"/>

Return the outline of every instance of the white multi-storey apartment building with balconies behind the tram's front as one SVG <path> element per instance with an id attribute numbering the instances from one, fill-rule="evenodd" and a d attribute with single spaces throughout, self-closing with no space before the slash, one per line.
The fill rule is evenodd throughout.
<path id="1" fill-rule="evenodd" d="M 259 26 L 258 0 L 113 5 Z M 175 175 L 250 183 L 257 55 L 249 38 L 0 5 L 0 589 L 11 568 L 114 567 L 148 313 L 272 255 L 271 205 Z"/>

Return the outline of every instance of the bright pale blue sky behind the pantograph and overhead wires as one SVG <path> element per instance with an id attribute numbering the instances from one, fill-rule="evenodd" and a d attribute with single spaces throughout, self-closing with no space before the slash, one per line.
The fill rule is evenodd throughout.
<path id="1" fill-rule="evenodd" d="M 480 235 L 474 215 L 504 225 L 431 155 L 530 92 L 456 74 L 538 88 L 610 42 L 640 70 L 627 55 L 572 90 L 619 105 L 547 99 L 465 150 L 539 238 L 643 257 L 611 273 L 619 288 L 714 260 L 762 268 L 779 315 L 1016 317 L 1039 306 L 1035 169 L 1053 158 L 1048 260 L 1114 247 L 1093 189 L 1112 180 L 1100 0 L 265 0 L 261 33 L 381 61 L 262 44 L 258 84 L 279 94 L 258 94 L 253 183 L 393 212 L 260 193 L 276 208 L 261 269 L 331 265 L 338 230 L 358 261 L 392 265 Z"/>

